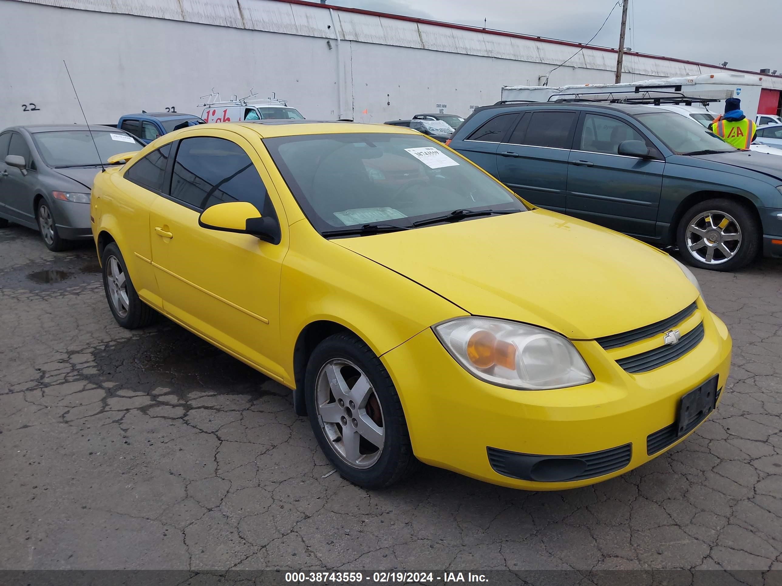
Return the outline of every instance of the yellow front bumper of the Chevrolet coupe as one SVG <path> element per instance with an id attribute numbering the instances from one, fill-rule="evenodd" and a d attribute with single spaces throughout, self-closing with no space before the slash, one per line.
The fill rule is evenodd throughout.
<path id="1" fill-rule="evenodd" d="M 413 450 L 421 461 L 512 488 L 577 488 L 632 470 L 686 437 L 647 453 L 648 442 L 676 420 L 680 399 L 688 391 L 715 375 L 716 388 L 724 391 L 730 334 L 702 302 L 698 306 L 704 315 L 703 340 L 680 359 L 647 373 L 626 373 L 596 341 L 574 341 L 595 376 L 593 383 L 579 387 L 518 391 L 479 381 L 457 364 L 430 329 L 381 359 L 396 384 Z M 539 456 L 608 451 L 627 463 L 584 480 L 524 481 L 495 470 L 490 456 L 496 460 L 497 451 Z"/>

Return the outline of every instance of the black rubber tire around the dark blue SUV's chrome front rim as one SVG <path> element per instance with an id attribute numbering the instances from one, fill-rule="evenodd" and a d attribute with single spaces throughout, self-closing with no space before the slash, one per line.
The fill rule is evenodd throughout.
<path id="1" fill-rule="evenodd" d="M 740 230 L 741 241 L 739 241 L 738 247 L 731 251 L 734 252 L 734 255 L 727 260 L 724 260 L 726 255 L 719 250 L 716 250 L 713 252 L 712 263 L 708 263 L 705 258 L 701 258 L 705 257 L 704 251 L 708 248 L 701 247 L 695 251 L 695 254 L 698 254 L 698 258 L 696 258 L 694 253 L 688 249 L 687 229 L 690 227 L 693 220 L 706 212 L 714 212 L 716 216 L 720 217 L 724 217 L 721 216 L 722 214 L 730 216 Z M 735 228 L 731 227 L 734 222 L 728 223 L 726 230 L 734 230 Z M 715 237 L 719 238 L 719 234 L 716 234 Z M 732 271 L 747 266 L 749 263 L 752 263 L 758 255 L 760 238 L 760 225 L 752 209 L 750 209 L 748 205 L 743 205 L 732 199 L 726 198 L 707 199 L 705 202 L 693 205 L 684 213 L 679 223 L 679 227 L 676 229 L 676 245 L 679 247 L 680 256 L 683 262 L 698 269 L 705 270 Z M 698 242 L 699 241 L 695 241 L 695 244 L 697 245 Z M 726 246 L 730 249 L 730 247 L 733 246 L 733 241 L 727 241 Z M 713 262 L 714 260 L 718 262 Z"/>

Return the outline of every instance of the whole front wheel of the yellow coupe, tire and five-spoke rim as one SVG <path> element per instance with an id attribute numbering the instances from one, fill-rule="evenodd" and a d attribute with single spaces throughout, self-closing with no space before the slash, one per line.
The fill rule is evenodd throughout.
<path id="1" fill-rule="evenodd" d="M 418 467 L 391 377 L 352 334 L 334 334 L 314 349 L 305 374 L 310 424 L 343 478 L 382 488 Z"/>

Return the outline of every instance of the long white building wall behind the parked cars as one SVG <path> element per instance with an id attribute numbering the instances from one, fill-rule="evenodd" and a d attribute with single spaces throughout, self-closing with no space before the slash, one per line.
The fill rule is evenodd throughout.
<path id="1" fill-rule="evenodd" d="M 503 85 L 538 84 L 574 52 L 277 0 L 0 0 L 0 128 L 83 122 L 63 59 L 91 123 L 171 106 L 200 114 L 212 88 L 223 99 L 274 91 L 311 119 L 384 122 L 438 104 L 467 115 Z M 550 84 L 610 83 L 615 59 L 585 49 Z M 704 73 L 637 55 L 624 63 L 623 81 Z"/>

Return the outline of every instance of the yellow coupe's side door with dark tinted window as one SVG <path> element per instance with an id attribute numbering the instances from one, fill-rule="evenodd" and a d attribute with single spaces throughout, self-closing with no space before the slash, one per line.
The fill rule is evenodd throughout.
<path id="1" fill-rule="evenodd" d="M 239 359 L 281 377 L 278 316 L 285 237 L 273 245 L 249 234 L 199 226 L 204 209 L 235 201 L 250 202 L 285 226 L 271 178 L 248 141 L 228 130 L 178 141 L 170 190 L 149 216 L 163 309 Z"/>

